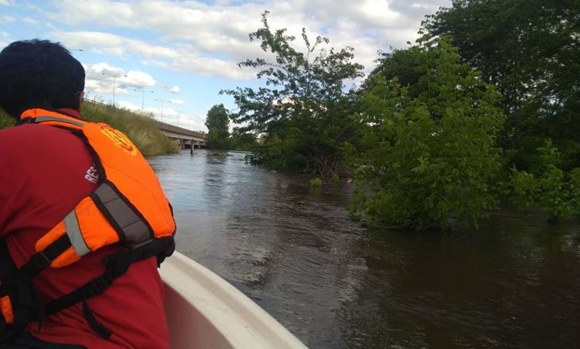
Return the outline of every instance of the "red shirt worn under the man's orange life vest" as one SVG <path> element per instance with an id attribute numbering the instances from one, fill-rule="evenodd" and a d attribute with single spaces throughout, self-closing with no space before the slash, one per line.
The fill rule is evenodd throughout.
<path id="1" fill-rule="evenodd" d="M 76 111 L 65 112 L 80 117 Z M 70 131 L 42 124 L 0 130 L 0 237 L 6 238 L 17 266 L 32 256 L 38 238 L 95 190 L 92 165 L 83 141 Z M 59 298 L 104 273 L 103 257 L 121 248 L 111 245 L 71 266 L 48 268 L 34 284 L 43 298 Z M 87 348 L 168 348 L 155 257 L 132 264 L 88 305 L 113 333 L 110 339 L 90 329 L 80 303 L 47 317 L 40 331 L 38 326 L 29 330 L 45 341 Z"/>

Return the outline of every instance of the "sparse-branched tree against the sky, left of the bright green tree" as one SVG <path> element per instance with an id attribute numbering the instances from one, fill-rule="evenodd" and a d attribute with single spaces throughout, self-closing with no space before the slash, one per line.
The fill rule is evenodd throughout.
<path id="1" fill-rule="evenodd" d="M 272 31 L 266 11 L 263 27 L 250 33 L 273 60 L 255 58 L 239 63 L 257 68 L 265 86 L 225 90 L 239 107 L 232 120 L 245 130 L 264 135 L 254 160 L 286 172 L 330 177 L 344 170 L 341 144 L 353 136 L 348 118 L 353 108 L 344 92 L 344 81 L 362 76 L 362 65 L 353 63 L 353 49 L 326 49 L 328 39 L 311 42 L 302 31 L 305 52 L 295 49 L 295 37 L 286 29 Z"/>

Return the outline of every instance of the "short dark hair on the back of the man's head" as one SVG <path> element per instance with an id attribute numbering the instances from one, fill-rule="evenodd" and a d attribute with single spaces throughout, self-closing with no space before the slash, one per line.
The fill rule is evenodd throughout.
<path id="1" fill-rule="evenodd" d="M 58 42 L 23 40 L 0 51 L 0 108 L 19 119 L 28 108 L 79 109 L 85 70 Z"/>

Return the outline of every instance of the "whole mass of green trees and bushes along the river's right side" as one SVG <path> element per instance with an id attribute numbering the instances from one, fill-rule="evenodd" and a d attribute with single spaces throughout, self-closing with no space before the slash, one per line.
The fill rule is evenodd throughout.
<path id="1" fill-rule="evenodd" d="M 353 49 L 284 29 L 250 33 L 258 89 L 225 90 L 252 162 L 352 176 L 367 225 L 477 225 L 501 201 L 580 211 L 580 8 L 574 1 L 457 0 L 416 44 L 382 54 L 360 87 Z M 474 20 L 477 18 L 477 20 Z M 378 48 L 387 49 L 387 48 Z M 350 86 L 348 88 L 347 86 Z"/>

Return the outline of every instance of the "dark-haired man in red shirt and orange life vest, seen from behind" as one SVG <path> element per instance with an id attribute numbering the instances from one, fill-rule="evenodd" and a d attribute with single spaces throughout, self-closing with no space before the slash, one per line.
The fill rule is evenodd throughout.
<path id="1" fill-rule="evenodd" d="M 169 346 L 157 267 L 175 248 L 170 206 L 130 140 L 81 121 L 84 79 L 58 43 L 0 52 L 0 108 L 19 123 L 0 130 L 0 241 L 9 252 L 0 252 L 0 348 Z M 141 186 L 159 186 L 155 199 L 138 197 L 148 190 L 127 179 L 140 176 Z M 10 263 L 19 270 L 7 272 Z"/>

